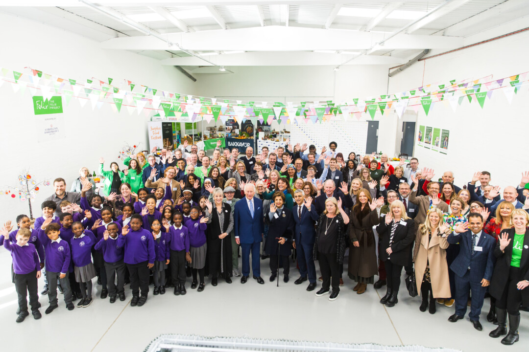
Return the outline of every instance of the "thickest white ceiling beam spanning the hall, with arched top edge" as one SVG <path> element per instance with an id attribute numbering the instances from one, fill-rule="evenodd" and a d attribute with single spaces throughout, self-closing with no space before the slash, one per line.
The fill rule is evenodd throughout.
<path id="1" fill-rule="evenodd" d="M 191 51 L 313 51 L 369 50 L 384 40 L 384 33 L 325 30 L 296 26 L 264 26 L 232 30 L 172 33 L 164 37 Z M 151 36 L 113 38 L 101 43 L 105 49 L 167 50 L 167 43 Z M 385 50 L 453 49 L 463 45 L 460 37 L 400 33 L 384 44 Z"/>

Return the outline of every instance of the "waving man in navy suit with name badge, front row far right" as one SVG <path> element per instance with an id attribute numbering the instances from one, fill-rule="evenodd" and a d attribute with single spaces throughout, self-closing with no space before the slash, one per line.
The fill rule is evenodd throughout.
<path id="1" fill-rule="evenodd" d="M 481 307 L 485 299 L 486 287 L 490 284 L 494 269 L 494 248 L 496 240 L 483 229 L 483 217 L 478 213 L 470 213 L 468 224 L 460 223 L 448 236 L 450 244 L 460 244 L 460 252 L 450 265 L 455 273 L 455 314 L 448 321 L 456 322 L 463 319 L 467 312 L 468 294 L 472 292 L 470 305 L 470 321 L 474 328 L 481 331 L 479 322 Z M 467 229 L 470 227 L 470 230 Z"/>

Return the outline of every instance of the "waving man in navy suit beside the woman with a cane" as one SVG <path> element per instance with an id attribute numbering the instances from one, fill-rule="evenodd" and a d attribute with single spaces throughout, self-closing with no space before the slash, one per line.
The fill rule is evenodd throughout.
<path id="1" fill-rule="evenodd" d="M 294 192 L 294 200 L 296 205 L 292 208 L 292 217 L 294 218 L 294 249 L 297 250 L 297 259 L 299 265 L 299 279 L 294 281 L 296 285 L 307 280 L 307 291 L 312 291 L 316 288 L 316 267 L 312 253 L 314 249 L 314 238 L 316 231 L 314 223 L 318 220 L 316 207 L 312 204 L 312 198 L 308 198 L 305 202 L 305 197 L 302 189 L 297 189 Z"/>

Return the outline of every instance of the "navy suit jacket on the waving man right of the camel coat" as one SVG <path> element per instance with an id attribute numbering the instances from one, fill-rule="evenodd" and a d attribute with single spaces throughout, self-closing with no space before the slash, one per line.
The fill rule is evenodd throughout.
<path id="1" fill-rule="evenodd" d="M 481 282 L 481 279 L 490 281 L 495 262 L 496 240 L 494 237 L 481 231 L 479 241 L 476 243 L 476 247 L 481 247 L 481 251 L 474 251 L 474 255 L 471 255 L 472 232 L 470 230 L 459 234 L 452 232 L 447 240 L 450 244 L 459 242 L 460 245 L 459 255 L 450 265 L 450 269 L 456 275 L 462 278 L 470 267 L 470 280 L 474 282 Z"/>

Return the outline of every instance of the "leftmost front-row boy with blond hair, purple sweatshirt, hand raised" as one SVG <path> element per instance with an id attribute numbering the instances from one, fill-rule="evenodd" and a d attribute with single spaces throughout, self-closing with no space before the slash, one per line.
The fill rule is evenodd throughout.
<path id="1" fill-rule="evenodd" d="M 28 291 L 30 293 L 30 306 L 33 318 L 40 319 L 42 317 L 39 311 L 39 293 L 37 286 L 37 279 L 40 278 L 40 263 L 39 256 L 35 246 L 28 243 L 32 236 L 31 231 L 21 228 L 12 244 L 8 230 L 3 227 L 0 230 L 0 237 L 4 242 L 4 248 L 11 252 L 13 258 L 13 271 L 16 293 L 19 296 L 19 316 L 16 322 L 22 322 L 30 315 L 28 312 Z"/>

